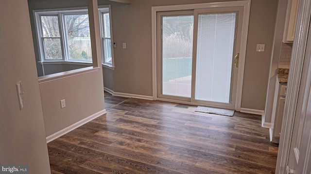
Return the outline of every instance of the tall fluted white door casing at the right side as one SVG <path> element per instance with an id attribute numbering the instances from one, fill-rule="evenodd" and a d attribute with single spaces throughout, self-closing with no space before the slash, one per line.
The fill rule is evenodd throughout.
<path id="1" fill-rule="evenodd" d="M 308 30 L 311 16 L 311 0 L 300 0 L 294 37 L 293 53 L 287 84 L 284 115 L 281 128 L 280 144 L 276 161 L 276 174 L 288 174 L 288 158 L 294 128 L 294 119 L 298 102 L 298 92 L 305 59 Z M 306 57 L 307 58 L 307 57 Z"/>

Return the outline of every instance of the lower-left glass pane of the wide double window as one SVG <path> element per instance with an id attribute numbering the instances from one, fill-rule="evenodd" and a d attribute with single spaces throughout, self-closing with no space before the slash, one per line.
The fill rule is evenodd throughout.
<path id="1" fill-rule="evenodd" d="M 45 38 L 43 42 L 45 59 L 63 59 L 60 38 Z"/>

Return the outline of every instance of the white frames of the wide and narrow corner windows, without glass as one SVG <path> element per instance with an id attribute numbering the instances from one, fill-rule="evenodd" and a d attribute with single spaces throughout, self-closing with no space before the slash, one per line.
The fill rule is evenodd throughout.
<path id="1" fill-rule="evenodd" d="M 114 69 L 114 56 L 113 56 L 113 43 L 112 43 L 112 25 L 111 25 L 111 8 L 110 5 L 99 6 L 98 13 L 100 17 L 100 30 L 101 30 L 101 37 L 104 33 L 103 28 L 103 19 L 101 17 L 102 13 L 108 13 L 110 18 L 110 39 L 111 39 L 111 54 L 112 54 L 112 63 L 104 62 L 104 43 L 103 39 L 101 39 L 101 46 L 102 46 L 102 64 L 105 67 Z M 87 7 L 80 7 L 80 8 L 62 8 L 62 9 L 45 9 L 45 10 L 34 10 L 34 19 L 35 19 L 35 30 L 37 36 L 37 43 L 38 43 L 38 51 L 40 57 L 40 64 L 59 64 L 59 63 L 69 63 L 69 64 L 92 64 L 91 60 L 72 60 L 69 57 L 69 49 L 67 48 L 67 37 L 66 36 L 66 29 L 65 29 L 65 15 L 73 15 L 73 14 L 88 14 Z M 62 59 L 46 59 L 45 56 L 45 49 L 43 40 L 46 37 L 43 37 L 42 33 L 42 26 L 41 26 L 41 16 L 57 16 L 58 17 L 58 27 L 61 40 L 61 51 L 62 51 Z M 103 37 L 102 37 L 103 38 Z"/>

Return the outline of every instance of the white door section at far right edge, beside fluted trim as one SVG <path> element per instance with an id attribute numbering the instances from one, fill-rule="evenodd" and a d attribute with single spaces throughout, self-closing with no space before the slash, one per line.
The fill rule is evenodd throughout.
<path id="1" fill-rule="evenodd" d="M 311 26 L 303 63 L 301 84 L 290 147 L 289 168 L 295 174 L 311 174 Z"/>

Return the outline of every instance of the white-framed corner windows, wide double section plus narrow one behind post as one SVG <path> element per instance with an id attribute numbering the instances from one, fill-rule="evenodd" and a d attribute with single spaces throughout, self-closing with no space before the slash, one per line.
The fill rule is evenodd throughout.
<path id="1" fill-rule="evenodd" d="M 103 64 L 113 67 L 110 7 L 99 8 Z M 35 11 L 41 62 L 92 63 L 87 9 Z"/>

